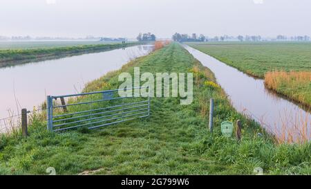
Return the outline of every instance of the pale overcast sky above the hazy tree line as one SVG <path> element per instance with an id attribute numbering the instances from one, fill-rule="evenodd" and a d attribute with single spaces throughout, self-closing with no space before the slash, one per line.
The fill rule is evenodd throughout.
<path id="1" fill-rule="evenodd" d="M 311 35 L 310 0 L 0 0 L 0 35 Z"/>

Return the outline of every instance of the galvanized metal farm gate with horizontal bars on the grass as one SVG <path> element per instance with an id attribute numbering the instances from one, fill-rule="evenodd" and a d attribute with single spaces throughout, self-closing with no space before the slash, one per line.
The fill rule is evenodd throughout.
<path id="1" fill-rule="evenodd" d="M 128 91 L 133 89 L 148 89 L 147 97 L 119 97 L 116 96 L 116 92 L 118 91 Z M 102 98 L 100 100 L 91 100 L 87 102 L 74 102 L 72 104 L 66 104 L 64 98 L 73 98 L 79 96 L 91 96 L 96 94 L 102 94 L 102 96 L 96 96 L 96 98 Z M 133 94 L 133 93 L 132 93 Z M 62 100 L 62 105 L 57 105 L 57 98 Z M 140 100 L 140 98 L 142 100 Z M 143 98 L 147 98 L 147 100 L 143 100 Z M 139 99 L 138 102 L 133 102 L 133 100 Z M 55 100 L 55 103 L 53 103 Z M 79 98 L 78 98 L 79 100 Z M 86 99 L 88 100 L 88 99 Z M 119 103 L 118 100 L 122 100 L 122 103 Z M 131 100 L 130 102 L 124 102 L 125 100 Z M 104 104 L 94 104 L 103 102 Z M 116 103 L 117 105 L 112 105 L 111 103 Z M 93 104 L 97 105 L 97 108 L 93 109 Z M 70 108 L 79 105 L 87 105 L 86 107 L 90 107 L 91 109 L 87 109 L 84 111 L 75 111 L 70 112 Z M 102 105 L 103 107 L 98 107 Z M 105 107 L 108 105 L 108 107 Z M 64 111 L 64 107 L 66 107 L 66 111 Z M 91 93 L 79 93 L 79 94 L 70 94 L 64 96 L 47 96 L 47 129 L 49 131 L 64 131 L 68 129 L 75 129 L 78 127 L 88 127 L 88 129 L 95 129 L 98 127 L 104 127 L 106 125 L 112 125 L 115 123 L 122 123 L 127 120 L 133 120 L 135 118 L 144 118 L 150 115 L 150 90 L 149 87 L 133 87 L 131 89 L 115 89 L 109 91 L 95 91 Z M 84 107 L 85 108 L 85 107 Z M 59 113 L 57 109 L 62 109 L 62 113 L 59 115 L 53 115 L 53 109 L 56 109 L 55 113 Z M 86 115 L 84 115 L 86 114 Z M 106 123 L 105 123 L 106 122 Z M 57 123 L 57 125 L 53 125 L 53 123 Z M 97 125 L 100 124 L 100 125 Z"/>

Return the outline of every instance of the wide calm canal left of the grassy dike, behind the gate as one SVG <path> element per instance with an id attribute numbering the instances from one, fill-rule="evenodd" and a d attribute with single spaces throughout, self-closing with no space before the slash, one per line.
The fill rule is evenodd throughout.
<path id="1" fill-rule="evenodd" d="M 135 57 L 147 55 L 153 46 L 132 46 L 22 64 L 0 69 L 0 119 L 18 114 L 21 108 L 32 110 L 44 102 L 46 95 L 82 91 L 84 85 L 109 71 L 120 69 Z"/>

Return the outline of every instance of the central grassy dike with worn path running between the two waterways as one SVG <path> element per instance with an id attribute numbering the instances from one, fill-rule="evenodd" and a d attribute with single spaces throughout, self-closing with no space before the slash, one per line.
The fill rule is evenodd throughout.
<path id="1" fill-rule="evenodd" d="M 140 73 L 194 73 L 194 102 L 151 98 L 151 116 L 102 129 L 55 134 L 38 115 L 30 136 L 2 136 L 0 174 L 311 174 L 311 145 L 275 145 L 254 122 L 236 113 L 214 75 L 179 44 L 170 44 L 91 82 L 86 91 L 115 89 L 117 77 L 133 67 Z M 215 99 L 214 136 L 207 131 L 209 98 Z M 223 120 L 243 121 L 243 139 L 220 134 Z"/>

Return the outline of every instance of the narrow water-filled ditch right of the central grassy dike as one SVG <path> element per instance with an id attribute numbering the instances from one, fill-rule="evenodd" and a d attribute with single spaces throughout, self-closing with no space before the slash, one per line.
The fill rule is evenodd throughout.
<path id="1" fill-rule="evenodd" d="M 207 66 L 225 90 L 234 108 L 261 123 L 278 138 L 311 138 L 311 114 L 290 100 L 265 89 L 263 80 L 255 79 L 190 46 L 189 53 Z"/>

